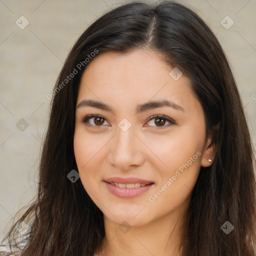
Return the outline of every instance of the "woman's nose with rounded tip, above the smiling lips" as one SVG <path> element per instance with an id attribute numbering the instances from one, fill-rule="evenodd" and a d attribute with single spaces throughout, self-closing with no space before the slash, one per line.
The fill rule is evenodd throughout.
<path id="1" fill-rule="evenodd" d="M 117 127 L 116 132 L 110 143 L 108 162 L 121 170 L 141 165 L 144 161 L 143 143 L 134 134 L 132 126 L 126 131 Z"/>

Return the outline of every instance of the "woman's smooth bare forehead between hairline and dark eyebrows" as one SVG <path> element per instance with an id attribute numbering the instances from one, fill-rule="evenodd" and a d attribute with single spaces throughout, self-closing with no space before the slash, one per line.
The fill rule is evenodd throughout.
<path id="1" fill-rule="evenodd" d="M 190 80 L 184 75 L 174 80 L 169 75 L 172 69 L 151 49 L 125 54 L 99 52 L 82 74 L 77 102 L 92 98 L 128 106 L 150 99 L 168 99 L 190 107 L 197 104 Z"/>

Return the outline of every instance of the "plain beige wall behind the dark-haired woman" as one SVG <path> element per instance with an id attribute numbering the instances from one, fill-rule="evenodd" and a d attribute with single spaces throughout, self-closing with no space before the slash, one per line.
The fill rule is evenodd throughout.
<path id="1" fill-rule="evenodd" d="M 0 239 L 17 209 L 35 195 L 38 156 L 49 110 L 46 94 L 52 91 L 69 49 L 100 14 L 124 2 L 0 0 Z M 255 146 L 256 1 L 179 2 L 189 4 L 223 46 Z M 29 21 L 24 29 L 15 23 L 20 22 L 21 15 Z M 229 29 L 220 23 L 226 15 L 234 21 Z M 23 131 L 16 127 L 21 118 L 28 123 Z"/>

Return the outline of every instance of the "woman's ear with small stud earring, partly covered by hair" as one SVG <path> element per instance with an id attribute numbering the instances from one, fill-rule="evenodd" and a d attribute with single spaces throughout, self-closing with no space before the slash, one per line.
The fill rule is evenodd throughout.
<path id="1" fill-rule="evenodd" d="M 217 144 L 216 140 L 214 139 L 216 137 L 217 130 L 219 128 L 219 123 L 212 128 L 212 132 L 209 135 L 209 137 L 205 141 L 205 146 L 204 150 L 202 153 L 202 158 L 201 158 L 201 166 L 202 167 L 208 167 L 212 164 L 216 151 L 217 151 Z M 209 159 L 211 161 L 209 161 Z"/>

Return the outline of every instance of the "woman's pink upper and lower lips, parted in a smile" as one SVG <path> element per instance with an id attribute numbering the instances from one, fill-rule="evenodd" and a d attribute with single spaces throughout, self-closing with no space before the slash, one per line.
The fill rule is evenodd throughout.
<path id="1" fill-rule="evenodd" d="M 126 188 L 126 187 L 123 188 L 123 187 L 117 187 L 115 185 L 112 185 L 110 182 L 122 183 L 122 184 L 144 183 L 146 185 L 140 186 L 140 187 L 134 187 L 134 188 Z M 150 182 L 148 180 L 143 180 L 143 179 L 133 178 L 133 177 L 130 177 L 130 178 L 112 177 L 104 180 L 104 183 L 108 191 L 110 191 L 113 195 L 120 198 L 136 197 L 148 191 L 154 185 L 153 182 Z"/>

